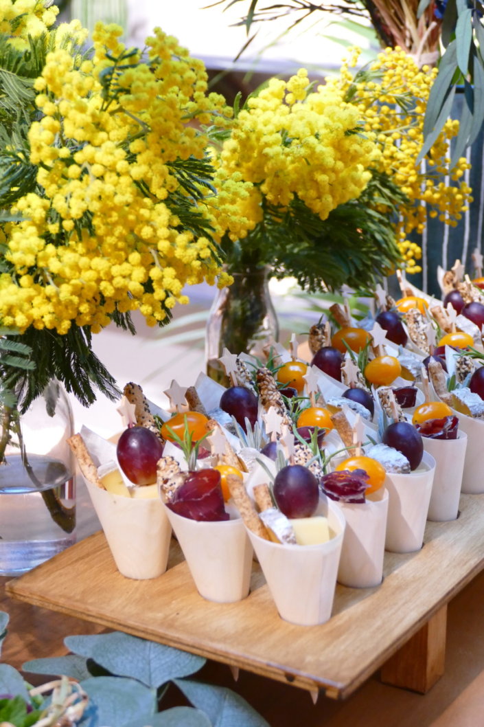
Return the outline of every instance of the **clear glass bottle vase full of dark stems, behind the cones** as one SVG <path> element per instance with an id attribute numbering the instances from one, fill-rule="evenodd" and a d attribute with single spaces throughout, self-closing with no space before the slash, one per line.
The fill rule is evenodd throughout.
<path id="1" fill-rule="evenodd" d="M 260 356 L 271 338 L 278 340 L 279 327 L 269 292 L 270 268 L 249 268 L 231 273 L 233 284 L 217 292 L 206 325 L 205 356 L 209 377 L 227 385 L 218 361 L 224 348 L 230 353 Z"/>

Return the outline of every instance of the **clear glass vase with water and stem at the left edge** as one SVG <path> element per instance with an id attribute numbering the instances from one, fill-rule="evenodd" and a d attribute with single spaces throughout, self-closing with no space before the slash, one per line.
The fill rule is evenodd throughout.
<path id="1" fill-rule="evenodd" d="M 64 387 L 52 381 L 25 414 L 6 413 L 14 433 L 0 465 L 0 575 L 12 576 L 75 542 L 76 484 Z"/>

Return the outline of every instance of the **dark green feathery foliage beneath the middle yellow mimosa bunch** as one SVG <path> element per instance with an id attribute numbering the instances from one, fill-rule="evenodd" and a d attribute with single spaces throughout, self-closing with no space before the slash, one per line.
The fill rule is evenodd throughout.
<path id="1" fill-rule="evenodd" d="M 230 271 L 271 265 L 302 288 L 371 288 L 400 262 L 395 241 L 398 206 L 406 196 L 386 174 L 374 172 L 359 198 L 320 220 L 295 198 L 286 212 L 266 206 L 264 219 L 242 241 L 224 241 Z"/>

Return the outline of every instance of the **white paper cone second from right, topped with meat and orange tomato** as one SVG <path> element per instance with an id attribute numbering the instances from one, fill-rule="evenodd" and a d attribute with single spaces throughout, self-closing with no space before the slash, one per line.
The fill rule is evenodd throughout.
<path id="1" fill-rule="evenodd" d="M 427 520 L 455 520 L 459 512 L 467 434 L 459 432 L 457 439 L 422 437 L 424 449 L 435 459 L 435 475 Z"/>

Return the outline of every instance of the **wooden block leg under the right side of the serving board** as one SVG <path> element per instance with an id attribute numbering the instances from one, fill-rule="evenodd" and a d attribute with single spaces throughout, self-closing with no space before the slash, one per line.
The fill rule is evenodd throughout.
<path id="1" fill-rule="evenodd" d="M 443 606 L 383 665 L 382 682 L 426 694 L 444 672 L 446 626 Z"/>

